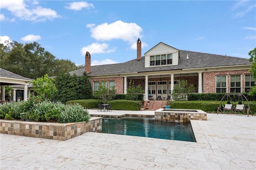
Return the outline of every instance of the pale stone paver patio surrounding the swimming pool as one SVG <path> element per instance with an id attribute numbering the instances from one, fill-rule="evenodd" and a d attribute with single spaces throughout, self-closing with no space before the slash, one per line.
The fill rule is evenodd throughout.
<path id="1" fill-rule="evenodd" d="M 125 113 L 154 111 L 104 114 Z M 256 116 L 208 114 L 207 119 L 191 121 L 196 143 L 91 132 L 68 141 L 0 134 L 0 169 L 256 169 Z"/>

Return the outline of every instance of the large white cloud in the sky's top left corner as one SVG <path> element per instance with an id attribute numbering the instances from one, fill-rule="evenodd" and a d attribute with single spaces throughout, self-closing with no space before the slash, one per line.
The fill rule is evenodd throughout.
<path id="1" fill-rule="evenodd" d="M 35 6 L 37 4 L 38 1 L 1 0 L 0 8 L 5 8 L 10 11 L 13 16 L 21 20 L 45 21 L 60 17 L 56 11 L 50 8 Z M 30 5 L 32 5 L 32 7 Z"/>

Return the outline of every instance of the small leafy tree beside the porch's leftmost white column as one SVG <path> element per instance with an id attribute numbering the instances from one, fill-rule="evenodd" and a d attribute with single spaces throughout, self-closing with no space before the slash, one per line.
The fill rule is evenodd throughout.
<path id="1" fill-rule="evenodd" d="M 144 94 L 144 90 L 142 90 L 140 84 L 138 86 L 134 86 L 134 81 L 132 82 L 132 80 L 130 80 L 129 87 L 126 89 L 126 92 L 126 100 L 140 100 L 139 95 Z"/>

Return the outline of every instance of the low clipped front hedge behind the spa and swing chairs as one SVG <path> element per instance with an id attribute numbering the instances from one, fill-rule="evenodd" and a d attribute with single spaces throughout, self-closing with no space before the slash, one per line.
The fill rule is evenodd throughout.
<path id="1" fill-rule="evenodd" d="M 222 102 L 222 105 L 226 102 Z M 237 102 L 233 102 L 236 106 Z M 249 102 L 252 113 L 256 114 L 256 102 Z M 207 113 L 217 113 L 217 109 L 220 106 L 220 101 L 170 101 L 171 109 L 200 109 Z M 244 102 L 244 106 L 248 107 L 247 102 Z M 246 113 L 247 114 L 247 113 Z"/>

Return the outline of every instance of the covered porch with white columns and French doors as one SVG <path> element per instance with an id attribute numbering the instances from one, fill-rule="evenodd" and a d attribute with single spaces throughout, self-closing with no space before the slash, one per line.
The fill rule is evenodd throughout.
<path id="1" fill-rule="evenodd" d="M 136 76 L 124 76 L 124 94 L 129 86 L 130 80 L 134 85 L 140 85 L 145 91 L 144 100 L 167 100 L 172 98 L 171 92 L 177 80 L 187 80 L 188 84 L 193 84 L 195 93 L 202 93 L 202 74 L 203 72 L 191 73 L 165 73 L 158 72 L 155 74 L 138 73 Z"/>

